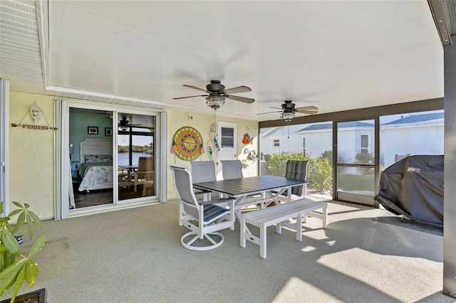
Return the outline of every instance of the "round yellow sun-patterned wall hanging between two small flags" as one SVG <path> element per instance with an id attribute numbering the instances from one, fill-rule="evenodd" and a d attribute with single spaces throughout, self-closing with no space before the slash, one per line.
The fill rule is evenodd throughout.
<path id="1" fill-rule="evenodd" d="M 176 155 L 182 160 L 192 161 L 201 154 L 202 137 L 193 127 L 181 127 L 175 132 Z"/>

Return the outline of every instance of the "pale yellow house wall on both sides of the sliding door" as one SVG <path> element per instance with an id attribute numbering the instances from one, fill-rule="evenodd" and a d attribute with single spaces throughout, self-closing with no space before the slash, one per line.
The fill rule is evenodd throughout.
<path id="1" fill-rule="evenodd" d="M 52 96 L 33 95 L 22 92 L 9 94 L 9 122 L 19 124 L 34 124 L 29 110 L 36 102 L 41 108 L 51 127 L 53 127 L 54 98 Z M 25 116 L 25 117 L 24 117 Z M 192 119 L 190 119 L 190 116 Z M 41 117 L 38 125 L 47 125 L 46 119 Z M 189 114 L 188 112 L 168 112 L 167 123 L 167 165 L 184 166 L 190 169 L 190 162 L 183 161 L 170 154 L 172 137 L 177 129 L 191 126 L 198 130 L 204 139 L 204 144 L 209 140 L 209 132 L 214 122 L 212 115 Z M 246 159 L 244 148 L 254 149 L 258 152 L 258 122 L 243 119 L 217 117 L 218 121 L 237 123 L 237 154 L 240 160 Z M 14 209 L 11 201 L 28 203 L 31 210 L 41 219 L 54 218 L 54 130 L 25 129 L 22 127 L 9 128 L 9 209 Z M 252 137 L 252 143 L 242 144 L 245 133 Z M 204 146 L 206 153 L 198 160 L 209 160 L 208 147 Z M 217 153 L 214 152 L 213 160 L 218 164 Z M 244 176 L 257 176 L 258 160 L 247 161 Z M 167 171 L 168 199 L 177 198 L 172 186 L 172 176 Z"/>

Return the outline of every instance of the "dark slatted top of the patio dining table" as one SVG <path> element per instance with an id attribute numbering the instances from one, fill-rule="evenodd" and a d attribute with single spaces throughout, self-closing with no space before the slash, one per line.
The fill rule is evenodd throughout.
<path id="1" fill-rule="evenodd" d="M 311 181 L 288 179 L 281 176 L 253 176 L 242 179 L 220 180 L 195 183 L 196 188 L 226 193 L 229 196 L 242 196 L 247 193 L 260 193 L 271 189 L 298 186 Z"/>

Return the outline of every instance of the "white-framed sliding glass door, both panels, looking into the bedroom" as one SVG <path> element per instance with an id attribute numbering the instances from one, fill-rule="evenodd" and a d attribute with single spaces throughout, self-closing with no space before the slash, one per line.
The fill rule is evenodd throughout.
<path id="1" fill-rule="evenodd" d="M 156 201 L 158 115 L 61 102 L 61 217 Z"/>

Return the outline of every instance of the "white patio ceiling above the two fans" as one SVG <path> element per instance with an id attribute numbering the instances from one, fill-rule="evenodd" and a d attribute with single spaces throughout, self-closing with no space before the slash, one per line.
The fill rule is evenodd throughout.
<path id="1" fill-rule="evenodd" d="M 287 99 L 326 113 L 443 97 L 425 0 L 0 0 L 0 9 L 0 77 L 11 90 L 210 114 L 204 97 L 172 98 L 204 94 L 182 84 L 217 79 L 251 87 L 234 95 L 256 100 L 227 100 L 217 115 L 260 121 L 279 119 L 257 114 Z M 25 55 L 15 36 L 31 41 Z"/>

